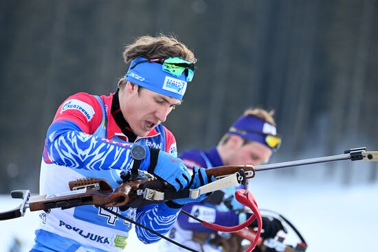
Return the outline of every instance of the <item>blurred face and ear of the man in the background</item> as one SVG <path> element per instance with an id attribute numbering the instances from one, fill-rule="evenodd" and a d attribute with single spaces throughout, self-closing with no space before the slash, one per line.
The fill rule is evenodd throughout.
<path id="1" fill-rule="evenodd" d="M 243 145 L 241 137 L 232 136 L 229 142 L 226 165 L 261 165 L 271 157 L 271 149 L 256 141 Z"/>

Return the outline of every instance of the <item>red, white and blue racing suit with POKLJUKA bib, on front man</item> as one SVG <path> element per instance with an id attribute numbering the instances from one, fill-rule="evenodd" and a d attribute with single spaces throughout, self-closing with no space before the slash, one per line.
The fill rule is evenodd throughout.
<path id="1" fill-rule="evenodd" d="M 111 115 L 112 100 L 113 94 L 98 97 L 77 93 L 59 106 L 47 130 L 40 194 L 67 192 L 69 181 L 87 177 L 103 178 L 113 188 L 118 187 L 120 172 L 132 168 L 133 144 L 127 142 Z M 177 156 L 175 137 L 162 124 L 146 137 L 137 137 L 134 144 L 159 148 Z M 146 166 L 142 162 L 140 170 L 147 170 Z M 112 210 L 159 233 L 167 233 L 180 209 L 159 203 L 123 212 L 118 207 Z M 123 251 L 131 229 L 131 223 L 93 205 L 51 209 L 40 217 L 33 247 L 37 251 Z M 135 231 L 144 243 L 159 240 L 140 227 Z"/>

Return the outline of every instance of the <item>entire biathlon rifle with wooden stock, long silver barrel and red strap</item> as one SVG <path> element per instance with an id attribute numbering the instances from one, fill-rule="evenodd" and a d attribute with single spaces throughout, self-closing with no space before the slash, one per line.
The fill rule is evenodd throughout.
<path id="1" fill-rule="evenodd" d="M 206 194 L 208 192 L 214 192 L 227 187 L 236 187 L 241 184 L 246 185 L 249 179 L 254 178 L 256 172 L 259 171 L 348 159 L 351 161 L 378 161 L 378 152 L 367 152 L 366 148 L 355 148 L 346 150 L 344 151 L 344 154 L 335 156 L 303 159 L 284 163 L 273 163 L 269 165 L 258 165 L 256 167 L 252 165 L 219 166 L 206 170 L 206 174 L 214 176 L 216 179 L 214 182 L 208 183 L 207 185 L 203 185 L 194 190 L 186 189 L 182 192 L 174 192 L 172 188 L 169 187 L 164 181 L 153 177 L 122 183 L 119 187 L 115 188 L 115 190 L 113 190 L 111 185 L 109 185 L 107 181 L 104 181 L 104 179 L 80 179 L 78 181 L 70 181 L 69 188 L 71 191 L 58 194 L 30 196 L 30 190 L 16 190 L 11 192 L 11 196 L 12 198 L 21 198 L 21 205 L 10 211 L 0 213 L 0 220 L 8 220 L 24 216 L 27 208 L 29 208 L 30 211 L 44 210 L 48 212 L 53 208 L 68 209 L 70 207 L 78 207 L 81 205 L 95 205 L 99 207 L 140 207 L 142 205 L 164 202 L 175 198 L 198 198 L 201 194 Z M 236 191 L 235 196 L 236 200 L 241 202 L 243 205 L 250 207 L 254 213 L 254 215 L 243 223 L 243 225 L 238 225 L 236 227 L 223 227 L 199 220 L 198 218 L 191 216 L 184 211 L 182 212 L 190 216 L 190 218 L 200 221 L 205 227 L 225 232 L 241 230 L 247 227 L 255 218 L 257 218 L 258 232 L 256 233 L 254 242 L 247 249 L 247 251 L 252 251 L 260 236 L 260 212 L 258 211 L 256 201 L 254 200 L 252 194 L 248 192 L 248 187 L 245 192 L 241 192 L 239 190 Z M 104 209 L 110 211 L 107 208 Z M 117 215 L 116 213 L 113 214 Z M 133 222 L 133 220 L 127 220 L 135 225 L 139 224 Z M 159 233 L 157 233 L 157 235 L 161 236 Z M 172 240 L 170 241 L 172 242 Z M 186 247 L 186 249 L 188 248 Z M 194 251 L 192 249 L 189 250 Z"/>

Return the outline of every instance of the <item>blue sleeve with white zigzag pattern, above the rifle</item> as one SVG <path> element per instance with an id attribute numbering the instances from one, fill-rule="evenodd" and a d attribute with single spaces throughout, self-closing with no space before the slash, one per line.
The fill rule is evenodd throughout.
<path id="1" fill-rule="evenodd" d="M 133 158 L 131 144 L 115 144 L 99 137 L 81 132 L 68 120 L 54 122 L 47 130 L 45 152 L 46 163 L 56 163 L 69 168 L 87 170 L 130 170 Z M 140 169 L 147 170 L 149 152 Z"/>

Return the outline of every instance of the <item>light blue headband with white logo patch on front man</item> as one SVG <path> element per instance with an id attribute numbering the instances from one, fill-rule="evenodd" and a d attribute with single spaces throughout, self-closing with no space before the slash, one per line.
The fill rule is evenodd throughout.
<path id="1" fill-rule="evenodd" d="M 131 69 L 137 62 L 146 58 L 137 57 L 130 64 L 129 71 L 124 78 L 156 93 L 167 95 L 178 100 L 182 100 L 186 91 L 186 76 L 180 77 L 163 71 L 162 64 L 157 62 L 142 62 Z"/>

